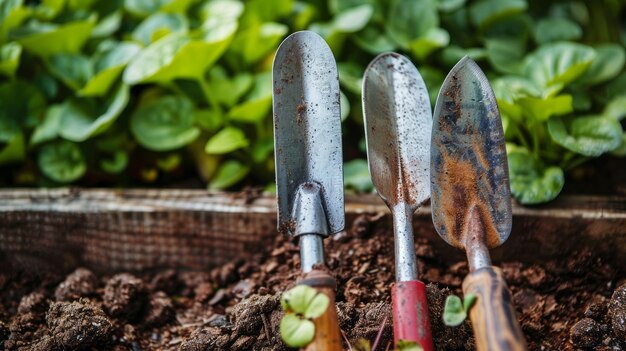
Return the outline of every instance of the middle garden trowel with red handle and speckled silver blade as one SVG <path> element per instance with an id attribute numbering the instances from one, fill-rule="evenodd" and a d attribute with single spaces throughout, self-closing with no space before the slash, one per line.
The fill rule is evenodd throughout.
<path id="1" fill-rule="evenodd" d="M 413 213 L 430 197 L 432 114 L 424 80 L 406 57 L 381 54 L 365 71 L 367 159 L 376 191 L 393 216 L 396 283 L 394 341 L 433 350 L 426 286 L 417 279 Z"/>

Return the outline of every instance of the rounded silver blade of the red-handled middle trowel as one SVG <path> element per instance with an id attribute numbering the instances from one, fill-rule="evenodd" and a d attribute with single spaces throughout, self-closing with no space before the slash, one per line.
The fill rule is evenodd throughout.
<path id="1" fill-rule="evenodd" d="M 430 196 L 430 100 L 422 76 L 402 55 L 381 54 L 363 79 L 370 175 L 393 207 L 416 208 Z"/>

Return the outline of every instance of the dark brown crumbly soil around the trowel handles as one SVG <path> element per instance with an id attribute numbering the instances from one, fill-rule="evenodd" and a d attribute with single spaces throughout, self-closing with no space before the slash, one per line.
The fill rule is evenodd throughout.
<path id="1" fill-rule="evenodd" d="M 388 223 L 362 216 L 328 239 L 347 340 L 390 349 L 393 243 Z M 461 294 L 465 262 L 446 263 L 416 239 L 418 270 L 429 282 L 437 350 L 472 350 L 469 322 L 443 326 L 443 303 Z M 6 350 L 285 350 L 279 297 L 299 278 L 298 248 L 277 237 L 251 260 L 206 272 L 161 270 L 64 276 L 0 265 L 0 344 Z M 626 275 L 593 253 L 543 264 L 500 262 L 530 350 L 626 350 Z M 1 347 L 0 347 L 1 349 Z M 347 347 L 346 347 L 347 349 Z"/>

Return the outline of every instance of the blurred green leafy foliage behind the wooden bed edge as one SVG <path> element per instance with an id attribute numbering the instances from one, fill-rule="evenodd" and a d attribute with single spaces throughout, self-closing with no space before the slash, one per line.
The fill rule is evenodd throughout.
<path id="1" fill-rule="evenodd" d="M 626 154 L 625 8 L 622 0 L 0 0 L 0 184 L 271 189 L 272 58 L 289 33 L 310 29 L 338 62 L 348 188 L 371 189 L 360 103 L 368 62 L 385 51 L 411 57 L 432 99 L 469 55 L 498 98 L 513 194 L 549 201 L 566 171 Z"/>

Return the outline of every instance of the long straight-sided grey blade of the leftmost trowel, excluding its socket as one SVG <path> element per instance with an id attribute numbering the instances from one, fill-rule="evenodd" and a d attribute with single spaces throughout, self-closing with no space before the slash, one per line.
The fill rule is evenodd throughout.
<path id="1" fill-rule="evenodd" d="M 297 32 L 278 48 L 272 73 L 278 229 L 296 234 L 293 209 L 298 188 L 316 183 L 327 234 L 337 233 L 345 219 L 339 79 L 333 53 L 319 35 Z"/>

